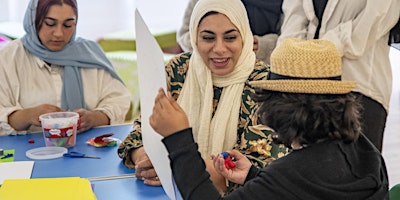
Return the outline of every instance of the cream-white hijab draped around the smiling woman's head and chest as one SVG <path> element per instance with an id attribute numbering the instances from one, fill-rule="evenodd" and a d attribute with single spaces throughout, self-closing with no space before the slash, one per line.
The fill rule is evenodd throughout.
<path id="1" fill-rule="evenodd" d="M 212 74 L 197 49 L 197 29 L 200 19 L 208 12 L 226 15 L 238 28 L 243 49 L 234 70 L 227 75 Z M 239 110 L 244 83 L 254 69 L 253 35 L 246 9 L 240 0 L 200 0 L 190 19 L 190 38 L 193 54 L 190 58 L 178 103 L 189 117 L 194 139 L 204 158 L 233 148 L 237 141 Z M 223 87 L 214 117 L 213 85 Z"/>

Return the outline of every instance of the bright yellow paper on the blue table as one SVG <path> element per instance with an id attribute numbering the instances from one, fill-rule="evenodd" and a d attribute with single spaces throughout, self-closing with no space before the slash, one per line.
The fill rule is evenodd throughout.
<path id="1" fill-rule="evenodd" d="M 96 200 L 88 179 L 8 179 L 0 188 L 0 200 Z"/>

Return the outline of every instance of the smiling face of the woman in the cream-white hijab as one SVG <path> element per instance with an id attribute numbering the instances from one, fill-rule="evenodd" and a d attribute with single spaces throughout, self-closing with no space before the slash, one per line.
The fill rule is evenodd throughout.
<path id="1" fill-rule="evenodd" d="M 243 48 L 239 30 L 223 14 L 206 16 L 197 29 L 197 49 L 212 73 L 231 73 Z"/>

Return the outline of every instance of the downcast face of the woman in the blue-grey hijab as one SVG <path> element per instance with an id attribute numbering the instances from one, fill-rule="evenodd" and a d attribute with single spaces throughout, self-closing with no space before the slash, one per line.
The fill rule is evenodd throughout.
<path id="1" fill-rule="evenodd" d="M 50 51 L 60 51 L 68 44 L 76 28 L 76 14 L 67 4 L 53 5 L 38 31 L 40 42 Z"/>

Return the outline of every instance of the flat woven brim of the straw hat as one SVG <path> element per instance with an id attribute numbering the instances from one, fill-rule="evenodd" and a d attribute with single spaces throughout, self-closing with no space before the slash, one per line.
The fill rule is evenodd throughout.
<path id="1" fill-rule="evenodd" d="M 250 84 L 265 90 L 306 94 L 346 94 L 356 86 L 354 81 L 333 80 L 260 80 Z"/>

